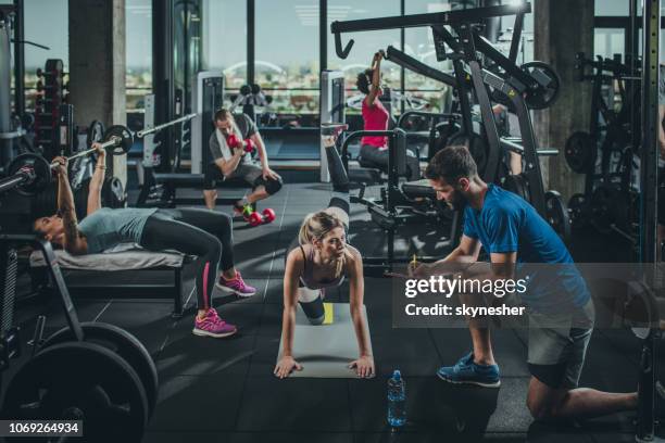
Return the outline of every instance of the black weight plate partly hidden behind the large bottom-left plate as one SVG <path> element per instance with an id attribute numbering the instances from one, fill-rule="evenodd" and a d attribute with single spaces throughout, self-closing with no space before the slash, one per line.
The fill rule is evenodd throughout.
<path id="1" fill-rule="evenodd" d="M 114 325 L 103 322 L 81 322 L 86 343 L 96 343 L 113 351 L 134 368 L 146 389 L 150 413 L 154 410 L 158 398 L 158 372 L 150 353 L 136 337 Z M 71 342 L 76 338 L 66 327 L 50 336 L 41 345 L 47 349 L 59 343 Z"/>

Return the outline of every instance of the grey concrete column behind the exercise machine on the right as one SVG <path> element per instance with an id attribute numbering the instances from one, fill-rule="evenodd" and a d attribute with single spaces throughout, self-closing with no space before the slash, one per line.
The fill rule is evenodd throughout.
<path id="1" fill-rule="evenodd" d="M 557 148 L 559 156 L 541 160 L 544 189 L 556 189 L 564 201 L 584 189 L 584 175 L 566 164 L 566 139 L 576 130 L 589 130 L 591 84 L 575 79 L 575 54 L 593 55 L 594 1 L 538 0 L 535 4 L 534 59 L 551 64 L 561 77 L 556 103 L 535 111 L 534 129 L 541 148 Z"/>

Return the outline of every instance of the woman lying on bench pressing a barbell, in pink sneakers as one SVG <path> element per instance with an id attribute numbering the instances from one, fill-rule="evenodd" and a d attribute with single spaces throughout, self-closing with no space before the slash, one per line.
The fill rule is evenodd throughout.
<path id="1" fill-rule="evenodd" d="M 234 240 L 228 215 L 206 210 L 156 210 L 101 207 L 105 151 L 99 143 L 99 156 L 90 180 L 87 216 L 76 219 L 74 198 L 67 178 L 67 160 L 58 164 L 58 214 L 37 218 L 33 225 L 46 240 L 70 254 L 97 254 L 118 243 L 137 243 L 149 251 L 175 250 L 196 255 L 198 314 L 193 333 L 223 338 L 236 333 L 236 327 L 222 320 L 211 306 L 215 286 L 226 293 L 251 296 L 256 290 L 244 283 L 234 267 Z M 222 274 L 217 277 L 217 268 Z"/>

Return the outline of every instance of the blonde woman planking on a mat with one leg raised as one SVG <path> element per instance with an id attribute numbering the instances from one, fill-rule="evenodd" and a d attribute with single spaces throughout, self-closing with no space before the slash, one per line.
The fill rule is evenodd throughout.
<path id="1" fill-rule="evenodd" d="M 360 252 L 347 244 L 349 227 L 349 197 L 343 192 L 349 179 L 335 145 L 326 149 L 330 178 L 338 195 L 328 207 L 305 217 L 298 238 L 289 245 L 284 276 L 284 314 L 281 336 L 284 353 L 274 374 L 288 377 L 302 366 L 292 354 L 296 307 L 298 304 L 312 325 L 321 325 L 325 318 L 323 299 L 326 288 L 340 286 L 344 277 L 350 281 L 350 308 L 360 356 L 350 363 L 360 377 L 374 376 L 374 358 L 369 350 L 367 324 L 363 315 L 364 278 Z"/>

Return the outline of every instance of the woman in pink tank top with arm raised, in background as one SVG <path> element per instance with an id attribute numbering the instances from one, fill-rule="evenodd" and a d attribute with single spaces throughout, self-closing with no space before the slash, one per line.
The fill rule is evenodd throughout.
<path id="1" fill-rule="evenodd" d="M 362 105 L 364 130 L 387 130 L 390 114 L 379 100 L 382 93 L 381 80 L 381 59 L 382 52 L 377 52 L 372 59 L 372 67 L 357 75 L 355 85 L 365 94 Z M 409 179 L 418 180 L 421 178 L 419 162 L 416 156 L 407 151 L 406 167 Z M 388 169 L 388 138 L 387 137 L 363 137 L 361 140 L 360 156 L 369 162 Z"/>

